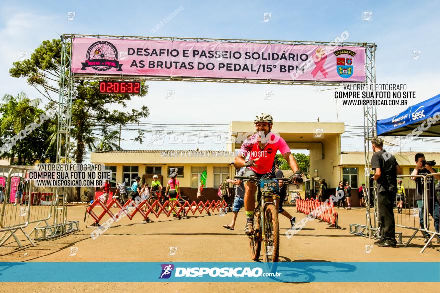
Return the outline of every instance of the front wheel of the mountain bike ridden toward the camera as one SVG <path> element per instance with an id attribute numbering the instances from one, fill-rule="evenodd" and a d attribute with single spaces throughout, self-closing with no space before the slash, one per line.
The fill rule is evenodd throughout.
<path id="1" fill-rule="evenodd" d="M 264 261 L 277 262 L 279 259 L 278 211 L 274 204 L 266 204 L 264 209 Z"/>

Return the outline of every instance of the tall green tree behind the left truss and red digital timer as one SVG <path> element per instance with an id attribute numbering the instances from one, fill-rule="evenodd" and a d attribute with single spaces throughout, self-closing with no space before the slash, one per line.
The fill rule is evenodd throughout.
<path id="1" fill-rule="evenodd" d="M 13 77 L 26 78 L 31 86 L 51 102 L 51 106 L 56 107 L 60 92 L 60 64 L 61 41 L 59 39 L 46 40 L 35 49 L 30 59 L 14 62 L 9 73 Z M 72 102 L 71 116 L 71 136 L 75 140 L 72 152 L 76 163 L 83 162 L 86 150 L 93 150 L 95 143 L 104 139 L 103 135 L 108 128 L 138 123 L 140 119 L 149 116 L 149 109 L 144 105 L 125 112 L 110 110 L 109 105 L 116 106 L 117 109 L 126 108 L 126 102 L 131 99 L 131 96 L 99 94 L 98 81 L 76 80 L 72 85 L 72 90 L 77 93 Z M 141 94 L 137 95 L 144 96 L 147 93 L 148 86 L 142 83 Z M 111 131 L 108 130 L 107 133 Z M 135 141 L 141 141 L 141 136 L 139 132 Z M 54 146 L 53 141 L 50 145 Z M 114 147 L 115 145 L 107 144 L 107 146 Z M 79 193 L 79 188 L 77 188 L 77 198 L 79 198 Z"/>

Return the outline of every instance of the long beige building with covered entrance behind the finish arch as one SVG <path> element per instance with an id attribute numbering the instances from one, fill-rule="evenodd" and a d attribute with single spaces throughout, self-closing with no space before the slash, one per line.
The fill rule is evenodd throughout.
<path id="1" fill-rule="evenodd" d="M 114 172 L 113 182 L 126 182 L 130 185 L 136 176 L 142 181 L 151 183 L 154 174 L 159 175 L 162 185 L 166 186 L 169 168 L 178 168 L 178 180 L 182 194 L 195 200 L 200 174 L 207 172 L 207 188 L 203 195 L 209 200 L 216 199 L 219 185 L 226 176 L 233 177 L 234 168 L 230 162 L 234 159 L 235 150 L 241 146 L 245 133 L 255 131 L 253 122 L 233 121 L 229 125 L 230 133 L 235 137 L 228 143 L 226 151 L 169 151 L 169 150 L 124 150 L 94 152 L 92 163 L 103 163 Z M 309 186 L 304 185 L 302 197 L 314 194 L 318 179 L 326 179 L 328 192 L 332 193 L 338 182 L 349 181 L 352 186 L 354 206 L 358 204 L 357 188 L 364 183 L 364 153 L 342 152 L 341 135 L 344 123 L 304 123 L 276 122 L 272 128 L 287 142 L 290 149 L 307 149 L 310 151 Z M 386 146 L 385 146 L 386 149 Z M 404 174 L 409 174 L 414 166 L 415 152 L 396 154 L 396 159 L 403 167 Z M 440 153 L 426 153 L 427 160 L 440 162 Z M 316 180 L 317 179 L 317 180 Z M 308 185 L 308 184 L 307 184 Z"/>

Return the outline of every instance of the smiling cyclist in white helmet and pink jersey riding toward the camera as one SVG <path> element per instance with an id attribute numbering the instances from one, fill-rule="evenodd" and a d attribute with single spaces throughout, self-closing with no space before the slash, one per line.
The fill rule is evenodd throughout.
<path id="1" fill-rule="evenodd" d="M 272 168 L 276 152 L 279 150 L 290 168 L 295 172 L 294 183 L 302 182 L 301 171 L 298 163 L 290 152 L 290 148 L 284 139 L 271 133 L 273 118 L 269 114 L 262 113 L 254 119 L 257 133 L 247 138 L 241 145 L 238 155 L 235 157 L 236 168 L 246 167 L 244 176 L 254 175 L 260 179 L 267 173 L 273 174 Z M 248 159 L 246 160 L 246 157 Z M 247 223 L 244 232 L 253 234 L 253 210 L 255 209 L 256 185 L 250 181 L 245 183 L 244 207 Z M 276 196 L 276 195 L 275 195 Z"/>

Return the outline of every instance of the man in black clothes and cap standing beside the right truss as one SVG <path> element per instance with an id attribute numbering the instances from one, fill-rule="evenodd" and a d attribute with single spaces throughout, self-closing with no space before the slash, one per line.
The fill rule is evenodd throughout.
<path id="1" fill-rule="evenodd" d="M 373 179 L 377 181 L 377 205 L 380 223 L 380 239 L 374 244 L 395 247 L 395 220 L 392 207 L 397 192 L 397 174 L 402 169 L 391 153 L 383 149 L 383 140 L 374 137 L 371 141 L 374 154 L 371 167 L 375 170 Z"/>

